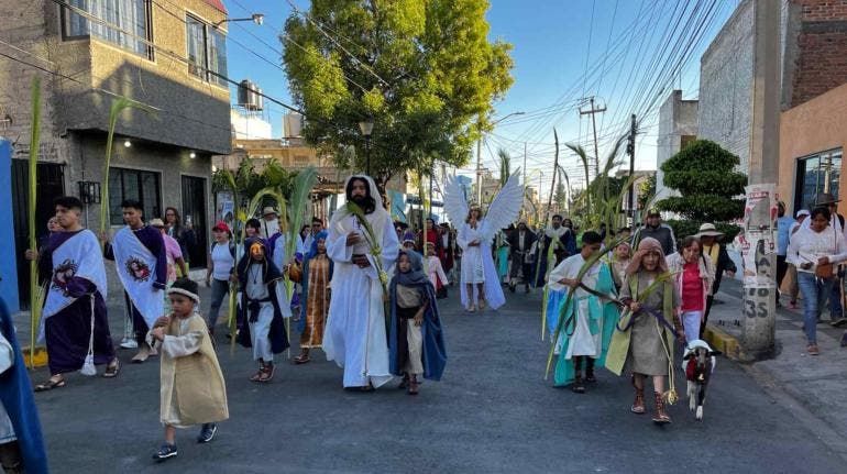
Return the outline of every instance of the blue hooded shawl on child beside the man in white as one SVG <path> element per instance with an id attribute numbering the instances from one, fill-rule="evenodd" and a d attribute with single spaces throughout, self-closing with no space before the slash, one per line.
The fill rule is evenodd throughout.
<path id="1" fill-rule="evenodd" d="M 391 373 L 394 375 L 402 375 L 403 367 L 399 366 L 399 355 L 397 338 L 405 338 L 405 333 L 400 333 L 400 318 L 397 317 L 397 284 L 403 283 L 404 286 L 418 287 L 424 289 L 425 299 L 429 301 L 427 309 L 424 311 L 424 324 L 421 326 L 421 332 L 424 335 L 424 378 L 431 381 L 440 381 L 441 375 L 444 373 L 444 366 L 447 365 L 447 350 L 444 348 L 444 333 L 441 329 L 441 317 L 438 311 L 438 304 L 436 302 L 436 290 L 432 288 L 432 284 L 429 278 L 424 279 L 416 278 L 418 273 L 424 273 L 424 261 L 420 254 L 417 252 L 400 251 L 400 255 L 407 255 L 409 262 L 411 262 L 411 271 L 402 274 L 399 268 L 394 278 L 392 278 L 388 293 L 391 295 L 391 311 L 392 320 L 388 334 L 388 363 Z M 411 320 L 408 320 L 408 324 L 414 324 Z"/>

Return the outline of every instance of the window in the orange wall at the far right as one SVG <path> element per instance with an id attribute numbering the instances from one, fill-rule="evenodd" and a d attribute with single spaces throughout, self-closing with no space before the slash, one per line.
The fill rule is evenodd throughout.
<path id="1" fill-rule="evenodd" d="M 842 150 L 831 150 L 798 159 L 794 209 L 811 210 L 820 192 L 832 192 L 838 199 L 842 177 Z"/>

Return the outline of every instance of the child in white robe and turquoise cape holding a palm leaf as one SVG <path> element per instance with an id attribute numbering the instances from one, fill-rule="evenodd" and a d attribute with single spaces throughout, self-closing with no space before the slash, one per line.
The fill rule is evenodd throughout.
<path id="1" fill-rule="evenodd" d="M 605 363 L 605 354 L 618 316 L 617 308 L 612 304 L 615 284 L 605 262 L 597 261 L 585 272 L 582 279 L 579 278 L 581 268 L 592 255 L 600 252 L 602 242 L 598 233 L 585 232 L 580 253 L 565 258 L 550 273 L 550 329 L 556 329 L 559 318 L 564 318 L 565 321 L 559 340 L 556 341 L 560 346 L 554 381 L 558 386 L 572 384 L 571 389 L 578 394 L 585 393 L 583 364 L 584 381 L 597 381 L 594 376 L 595 361 L 600 360 L 601 365 Z M 569 293 L 573 293 L 570 302 Z"/>

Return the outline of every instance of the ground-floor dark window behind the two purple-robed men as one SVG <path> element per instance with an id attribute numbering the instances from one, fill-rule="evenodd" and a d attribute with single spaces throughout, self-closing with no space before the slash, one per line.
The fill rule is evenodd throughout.
<path id="1" fill-rule="evenodd" d="M 160 175 L 139 169 L 109 168 L 109 217 L 112 225 L 123 223 L 121 202 L 135 199 L 144 207 L 145 220 L 162 216 Z"/>

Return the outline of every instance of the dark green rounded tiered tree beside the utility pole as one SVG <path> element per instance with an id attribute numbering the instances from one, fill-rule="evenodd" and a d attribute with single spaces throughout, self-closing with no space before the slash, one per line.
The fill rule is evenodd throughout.
<path id="1" fill-rule="evenodd" d="M 662 164 L 664 186 L 681 196 L 657 202 L 660 210 L 696 221 L 725 222 L 744 214 L 747 176 L 735 170 L 738 156 L 708 140 L 691 142 Z"/>

